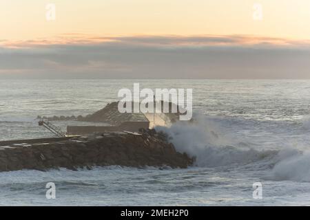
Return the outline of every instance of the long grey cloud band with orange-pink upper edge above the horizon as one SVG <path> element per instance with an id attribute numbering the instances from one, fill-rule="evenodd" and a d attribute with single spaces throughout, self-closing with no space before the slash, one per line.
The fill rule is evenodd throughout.
<path id="1" fill-rule="evenodd" d="M 254 36 L 2 41 L 0 78 L 310 78 L 310 43 Z"/>

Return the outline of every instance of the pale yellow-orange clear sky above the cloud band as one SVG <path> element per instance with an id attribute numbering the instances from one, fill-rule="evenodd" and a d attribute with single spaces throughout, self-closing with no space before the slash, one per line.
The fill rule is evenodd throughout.
<path id="1" fill-rule="evenodd" d="M 56 5 L 47 21 L 45 5 Z M 262 5 L 255 20 L 254 3 Z M 0 41 L 58 36 L 249 35 L 310 40 L 309 0 L 0 0 Z"/>

